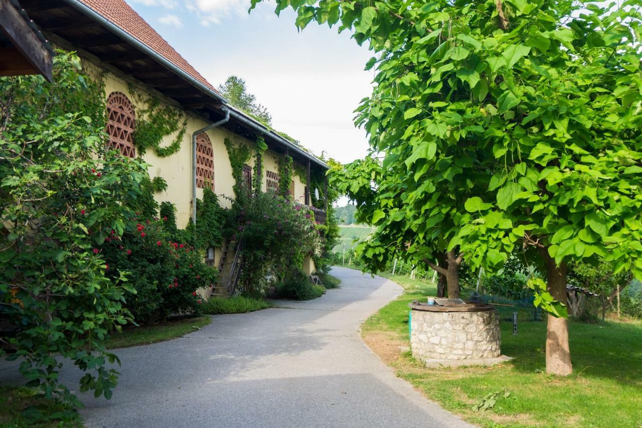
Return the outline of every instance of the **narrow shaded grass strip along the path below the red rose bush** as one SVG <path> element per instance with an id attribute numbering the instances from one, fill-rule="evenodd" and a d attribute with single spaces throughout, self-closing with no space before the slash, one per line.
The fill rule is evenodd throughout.
<path id="1" fill-rule="evenodd" d="M 211 317 L 204 316 L 174 319 L 166 323 L 125 328 L 122 333 L 112 334 L 105 347 L 107 349 L 127 348 L 128 346 L 168 341 L 169 339 L 195 332 L 196 327 L 200 328 L 211 322 Z"/>

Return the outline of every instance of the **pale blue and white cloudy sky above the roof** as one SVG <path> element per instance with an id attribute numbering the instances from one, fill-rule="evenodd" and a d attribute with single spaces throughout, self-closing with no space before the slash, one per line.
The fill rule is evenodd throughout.
<path id="1" fill-rule="evenodd" d="M 127 0 L 214 87 L 243 78 L 272 126 L 313 153 L 342 163 L 365 156 L 354 109 L 372 91 L 372 57 L 349 33 L 315 23 L 303 31 L 273 2 L 247 12 L 249 0 Z"/>

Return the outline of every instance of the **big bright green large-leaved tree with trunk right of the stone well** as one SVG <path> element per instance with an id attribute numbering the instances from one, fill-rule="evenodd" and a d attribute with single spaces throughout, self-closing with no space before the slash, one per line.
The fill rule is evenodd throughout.
<path id="1" fill-rule="evenodd" d="M 456 227 L 447 251 L 494 271 L 517 245 L 537 250 L 546 284 L 530 285 L 553 314 L 546 370 L 571 373 L 566 264 L 602 256 L 642 277 L 639 2 L 276 3 L 299 28 L 338 23 L 376 53 L 357 123 L 385 154 L 386 180 L 415 192 L 408 210 L 429 224 L 445 182 L 485 186 L 463 209 L 442 207 Z"/>

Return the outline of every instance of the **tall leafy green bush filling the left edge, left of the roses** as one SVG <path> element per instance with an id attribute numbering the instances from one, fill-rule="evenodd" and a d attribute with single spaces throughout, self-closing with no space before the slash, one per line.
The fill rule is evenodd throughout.
<path id="1" fill-rule="evenodd" d="M 102 86 L 78 57 L 59 52 L 53 75 L 0 78 L 0 316 L 17 328 L 3 357 L 21 358 L 44 397 L 80 406 L 58 371 L 71 361 L 85 372 L 80 391 L 112 395 L 118 373 L 105 364 L 119 361 L 104 341 L 131 318 L 135 290 L 105 276 L 98 247 L 107 230 L 124 233 L 148 176 L 105 150 Z"/>

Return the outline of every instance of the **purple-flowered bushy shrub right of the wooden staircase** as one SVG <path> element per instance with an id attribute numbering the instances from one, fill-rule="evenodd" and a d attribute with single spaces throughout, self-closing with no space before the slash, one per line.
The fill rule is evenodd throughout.
<path id="1" fill-rule="evenodd" d="M 234 204 L 230 218 L 229 234 L 243 240 L 241 283 L 250 294 L 263 294 L 268 278 L 285 278 L 306 254 L 321 249 L 311 211 L 276 193 L 258 193 L 245 206 Z"/>

